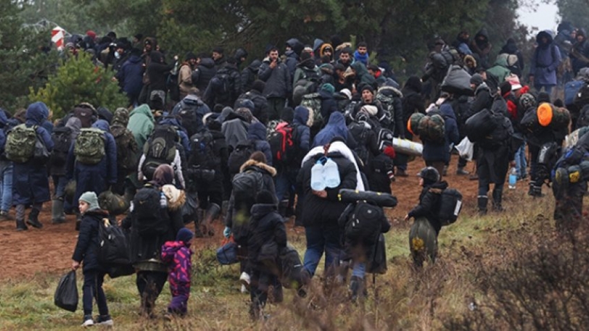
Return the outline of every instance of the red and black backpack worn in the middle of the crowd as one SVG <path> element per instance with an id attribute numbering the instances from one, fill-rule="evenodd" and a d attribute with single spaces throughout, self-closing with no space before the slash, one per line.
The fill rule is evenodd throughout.
<path id="1" fill-rule="evenodd" d="M 272 163 L 289 164 L 297 161 L 296 128 L 286 122 L 276 125 L 268 138 L 272 150 Z"/>

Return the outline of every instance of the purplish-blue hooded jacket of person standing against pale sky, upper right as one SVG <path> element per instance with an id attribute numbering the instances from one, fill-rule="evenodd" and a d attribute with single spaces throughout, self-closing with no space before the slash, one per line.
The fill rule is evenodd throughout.
<path id="1" fill-rule="evenodd" d="M 542 38 L 547 42 L 543 43 Z M 529 75 L 534 76 L 534 85 L 556 85 L 556 69 L 561 64 L 561 52 L 552 44 L 552 31 L 540 31 L 536 35 L 538 47 L 531 57 Z"/>

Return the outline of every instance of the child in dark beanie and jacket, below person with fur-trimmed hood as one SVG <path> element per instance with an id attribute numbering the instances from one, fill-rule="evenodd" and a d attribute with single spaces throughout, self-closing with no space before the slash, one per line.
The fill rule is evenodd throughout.
<path id="1" fill-rule="evenodd" d="M 279 252 L 285 247 L 286 229 L 283 218 L 277 211 L 274 195 L 262 190 L 256 195 L 256 204 L 252 206 L 247 238 L 247 258 L 251 271 L 249 296 L 252 301 L 249 316 L 254 321 L 264 316 L 268 287 L 274 285 L 274 293 L 276 287 L 282 289 L 278 279 L 280 267 L 276 262 Z M 278 292 L 281 293 L 281 290 Z M 274 296 L 274 302 L 276 301 L 281 301 L 281 298 Z"/>

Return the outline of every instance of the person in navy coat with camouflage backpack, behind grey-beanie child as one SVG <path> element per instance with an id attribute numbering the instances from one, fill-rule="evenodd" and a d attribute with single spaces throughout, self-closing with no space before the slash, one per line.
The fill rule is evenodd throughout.
<path id="1" fill-rule="evenodd" d="M 103 193 L 116 184 L 116 143 L 106 120 L 97 120 L 82 129 L 70 147 L 67 179 L 76 181 L 74 201 L 82 193 Z M 76 229 L 80 223 L 76 222 Z"/>

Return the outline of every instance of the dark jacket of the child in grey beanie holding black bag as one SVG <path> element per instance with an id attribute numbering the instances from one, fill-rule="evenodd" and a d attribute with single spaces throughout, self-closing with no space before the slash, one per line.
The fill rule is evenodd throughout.
<path id="1" fill-rule="evenodd" d="M 74 249 L 71 259 L 83 262 L 83 271 L 104 271 L 103 266 L 98 263 L 98 247 L 100 247 L 98 229 L 100 227 L 100 222 L 102 222 L 105 217 L 108 217 L 108 214 L 100 209 L 86 211 L 82 217 L 78 242 L 76 243 L 76 249 Z"/>

